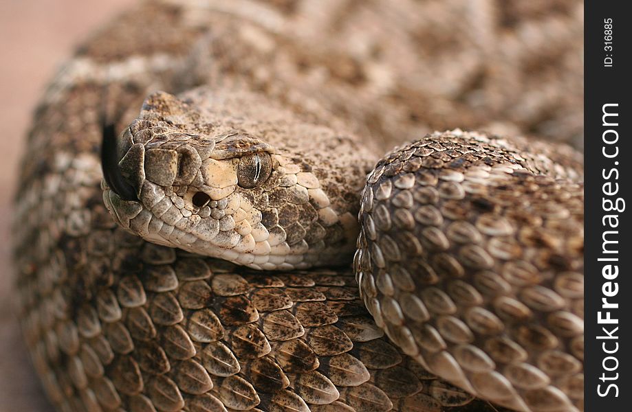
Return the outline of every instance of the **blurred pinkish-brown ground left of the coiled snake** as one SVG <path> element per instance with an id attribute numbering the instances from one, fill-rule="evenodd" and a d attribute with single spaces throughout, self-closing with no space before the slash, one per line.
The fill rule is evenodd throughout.
<path id="1" fill-rule="evenodd" d="M 52 411 L 12 311 L 11 201 L 32 110 L 73 46 L 125 0 L 0 0 L 0 412 Z"/>

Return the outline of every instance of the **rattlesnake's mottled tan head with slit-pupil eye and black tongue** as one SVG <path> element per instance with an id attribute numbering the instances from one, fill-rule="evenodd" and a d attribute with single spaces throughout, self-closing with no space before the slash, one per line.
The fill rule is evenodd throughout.
<path id="1" fill-rule="evenodd" d="M 279 131 L 269 106 L 257 104 L 251 113 L 253 99 L 151 95 L 118 141 L 104 141 L 107 208 L 145 240 L 252 268 L 350 262 L 370 162 L 360 166 L 341 156 L 338 170 L 335 162 L 309 157 Z M 311 144 L 331 140 L 305 124 L 283 130 L 303 133 Z M 344 139 L 336 144 L 354 150 Z"/>

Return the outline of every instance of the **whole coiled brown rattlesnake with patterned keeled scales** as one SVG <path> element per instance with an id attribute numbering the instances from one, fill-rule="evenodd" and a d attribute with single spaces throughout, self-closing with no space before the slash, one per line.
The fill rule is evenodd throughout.
<path id="1" fill-rule="evenodd" d="M 581 10 L 164 0 L 102 27 L 15 202 L 56 409 L 582 411 L 582 160 L 550 142 L 580 144 Z"/>

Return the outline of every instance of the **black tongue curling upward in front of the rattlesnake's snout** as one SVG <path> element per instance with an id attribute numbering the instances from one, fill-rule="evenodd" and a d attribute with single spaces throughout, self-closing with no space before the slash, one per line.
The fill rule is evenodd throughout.
<path id="1" fill-rule="evenodd" d="M 103 179 L 112 191 L 124 201 L 138 201 L 134 187 L 124 178 L 118 168 L 118 144 L 114 124 L 102 124 L 101 168 Z"/>

